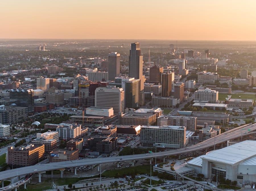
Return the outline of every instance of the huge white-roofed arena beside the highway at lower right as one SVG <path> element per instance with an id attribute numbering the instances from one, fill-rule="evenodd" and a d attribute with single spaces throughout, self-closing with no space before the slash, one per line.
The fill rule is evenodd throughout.
<path id="1" fill-rule="evenodd" d="M 220 157 L 221 156 L 221 157 Z M 222 176 L 224 179 L 246 184 L 256 181 L 256 141 L 242 141 L 228 147 L 213 150 L 190 160 L 188 167 L 195 173 L 203 174 L 205 178 Z M 251 186 L 249 186 L 251 189 Z"/>

